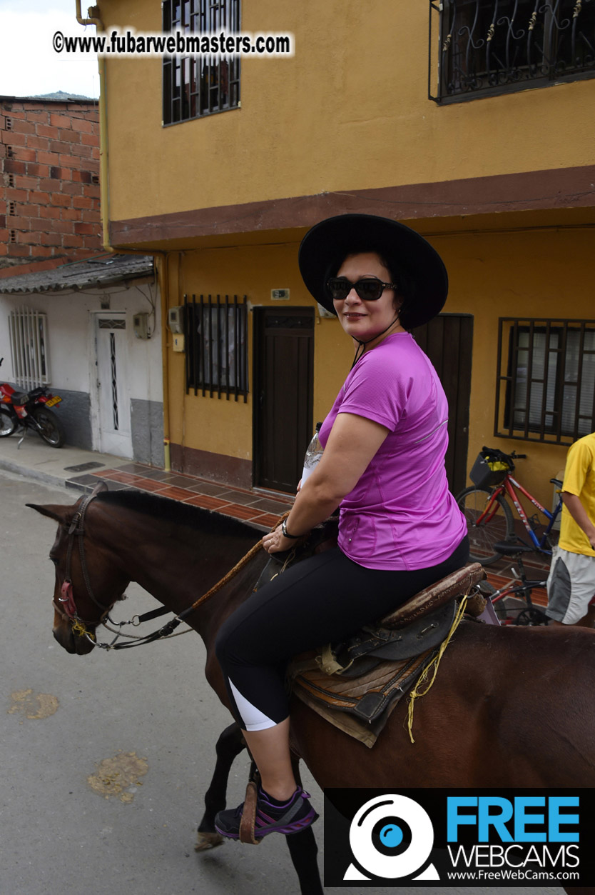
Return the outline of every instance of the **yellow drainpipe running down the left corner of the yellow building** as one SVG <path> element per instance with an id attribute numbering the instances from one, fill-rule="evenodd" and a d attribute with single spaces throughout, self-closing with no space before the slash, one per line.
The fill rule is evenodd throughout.
<path id="1" fill-rule="evenodd" d="M 99 7 L 90 6 L 88 8 L 88 19 L 83 19 L 80 11 L 80 0 L 75 0 L 77 21 L 80 25 L 95 25 L 97 31 L 104 30 L 104 23 L 99 18 Z M 110 208 L 110 191 L 109 191 L 109 166 L 108 166 L 108 139 L 107 139 L 107 81 L 105 78 L 105 56 L 99 56 L 99 190 L 101 204 L 101 226 L 104 234 L 105 251 L 114 252 L 110 245 L 109 234 L 109 208 Z M 165 472 L 169 473 L 172 469 L 172 459 L 170 456 L 170 399 L 169 399 L 169 355 L 167 345 L 167 309 L 170 306 L 170 280 L 169 280 L 169 264 L 168 253 L 166 251 L 140 249 L 126 249 L 126 253 L 130 255 L 157 255 L 161 258 L 161 354 L 163 362 L 163 461 Z"/>

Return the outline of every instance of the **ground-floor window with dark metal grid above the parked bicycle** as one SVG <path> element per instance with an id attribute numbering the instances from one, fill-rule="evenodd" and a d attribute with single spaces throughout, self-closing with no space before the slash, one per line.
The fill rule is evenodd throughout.
<path id="1" fill-rule="evenodd" d="M 592 431 L 595 320 L 500 319 L 494 434 L 571 444 Z"/>

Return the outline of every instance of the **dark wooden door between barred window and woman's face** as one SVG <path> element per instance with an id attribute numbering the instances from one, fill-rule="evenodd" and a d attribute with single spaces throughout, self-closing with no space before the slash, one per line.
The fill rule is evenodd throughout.
<path id="1" fill-rule="evenodd" d="M 314 431 L 314 308 L 255 308 L 254 340 L 254 483 L 293 494 Z"/>

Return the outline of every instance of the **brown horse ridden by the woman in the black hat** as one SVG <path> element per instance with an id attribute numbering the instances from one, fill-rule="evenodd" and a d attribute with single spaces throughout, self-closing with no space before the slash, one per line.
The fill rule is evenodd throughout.
<path id="1" fill-rule="evenodd" d="M 54 637 L 71 653 L 94 648 L 81 628 L 95 632 L 130 581 L 179 614 L 256 541 L 247 524 L 137 491 L 96 493 L 83 534 L 76 530 L 80 501 L 33 508 L 59 524 L 50 551 Z M 206 678 L 226 705 L 215 635 L 247 599 L 267 559 L 256 552 L 186 619 L 205 641 Z M 67 562 L 71 587 L 64 584 Z M 82 623 L 64 611 L 69 605 Z M 592 631 L 464 622 L 434 686 L 415 703 L 415 745 L 406 704 L 392 713 L 371 752 L 298 700 L 291 706 L 292 742 L 323 788 L 595 787 L 594 673 Z"/>

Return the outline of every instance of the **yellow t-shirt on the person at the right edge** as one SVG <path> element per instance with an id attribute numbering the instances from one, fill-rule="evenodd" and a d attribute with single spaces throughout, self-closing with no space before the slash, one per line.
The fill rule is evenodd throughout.
<path id="1" fill-rule="evenodd" d="M 587 516 L 595 524 L 595 432 L 575 441 L 569 448 L 562 490 L 575 494 L 581 500 Z M 587 535 L 574 522 L 566 507 L 562 507 L 559 545 L 571 553 L 595 557 Z"/>

